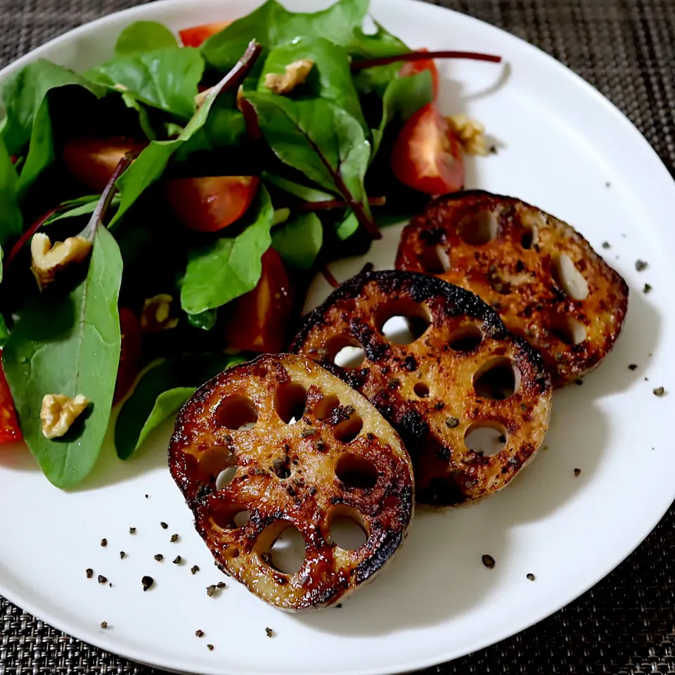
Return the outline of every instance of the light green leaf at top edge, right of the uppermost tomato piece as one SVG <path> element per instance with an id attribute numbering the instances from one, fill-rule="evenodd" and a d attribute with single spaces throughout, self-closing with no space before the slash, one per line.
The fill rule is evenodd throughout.
<path id="1" fill-rule="evenodd" d="M 301 35 L 323 37 L 345 46 L 354 41 L 354 30 L 363 25 L 368 1 L 338 0 L 321 12 L 304 14 L 289 12 L 276 0 L 268 0 L 207 39 L 202 53 L 214 68 L 224 70 L 231 68 L 242 47 L 252 39 L 268 49 Z"/>

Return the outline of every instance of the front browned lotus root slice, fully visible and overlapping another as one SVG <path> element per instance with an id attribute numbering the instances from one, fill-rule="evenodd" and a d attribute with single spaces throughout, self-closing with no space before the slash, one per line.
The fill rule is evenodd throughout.
<path id="1" fill-rule="evenodd" d="M 203 385 L 176 421 L 169 465 L 217 565 L 285 610 L 332 605 L 373 579 L 413 515 L 397 433 L 351 387 L 293 354 L 260 356 Z M 222 487 L 219 475 L 235 466 Z M 354 551 L 330 535 L 344 518 L 367 535 Z M 305 542 L 294 574 L 269 553 L 289 527 Z"/>

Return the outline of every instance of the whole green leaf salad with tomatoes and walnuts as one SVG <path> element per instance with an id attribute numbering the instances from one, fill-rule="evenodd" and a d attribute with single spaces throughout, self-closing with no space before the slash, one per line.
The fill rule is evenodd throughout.
<path id="1" fill-rule="evenodd" d="M 269 0 L 181 41 L 141 21 L 87 72 L 1 82 L 0 443 L 57 487 L 115 404 L 126 459 L 205 380 L 283 351 L 316 271 L 462 187 L 432 58 L 499 59 L 411 51 L 367 13 Z"/>

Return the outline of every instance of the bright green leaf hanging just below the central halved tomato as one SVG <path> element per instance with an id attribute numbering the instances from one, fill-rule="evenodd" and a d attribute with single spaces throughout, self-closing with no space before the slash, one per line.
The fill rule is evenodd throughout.
<path id="1" fill-rule="evenodd" d="M 274 219 L 269 193 L 258 191 L 252 224 L 234 238 L 188 250 L 188 266 L 181 287 L 181 307 L 188 314 L 217 309 L 255 288 L 262 273 L 260 259 L 271 244 Z"/>

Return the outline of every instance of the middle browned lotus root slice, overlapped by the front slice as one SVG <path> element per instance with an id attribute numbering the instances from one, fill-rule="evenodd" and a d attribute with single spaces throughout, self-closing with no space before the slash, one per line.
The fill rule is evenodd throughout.
<path id="1" fill-rule="evenodd" d="M 383 334 L 394 316 L 428 327 L 396 344 Z M 359 345 L 360 366 L 335 364 L 344 347 Z M 479 297 L 433 276 L 355 276 L 307 316 L 291 350 L 345 380 L 392 423 L 413 459 L 418 503 L 451 506 L 501 489 L 548 427 L 551 381 L 541 356 Z M 465 441 L 485 428 L 506 439 L 492 456 Z"/>

